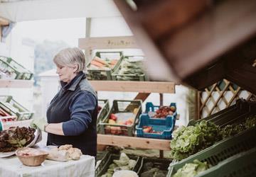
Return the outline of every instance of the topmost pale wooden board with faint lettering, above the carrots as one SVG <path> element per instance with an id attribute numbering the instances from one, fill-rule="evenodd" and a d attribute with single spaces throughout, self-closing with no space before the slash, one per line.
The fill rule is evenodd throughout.
<path id="1" fill-rule="evenodd" d="M 139 48 L 133 36 L 80 38 L 78 46 L 89 50 Z"/>

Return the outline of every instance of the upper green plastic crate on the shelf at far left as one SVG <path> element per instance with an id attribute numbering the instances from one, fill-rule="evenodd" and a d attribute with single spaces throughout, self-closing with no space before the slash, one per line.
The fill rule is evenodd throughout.
<path id="1" fill-rule="evenodd" d="M 8 71 L 15 73 L 13 76 L 11 76 L 11 79 L 32 79 L 33 73 L 23 67 L 21 64 L 18 64 L 11 57 L 0 56 L 0 66 L 0 68 L 5 66 Z"/>

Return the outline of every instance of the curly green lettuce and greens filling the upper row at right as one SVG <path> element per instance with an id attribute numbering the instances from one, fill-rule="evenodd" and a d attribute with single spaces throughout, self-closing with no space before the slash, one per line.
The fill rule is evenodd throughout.
<path id="1" fill-rule="evenodd" d="M 185 159 L 186 157 L 210 147 L 223 138 L 238 134 L 250 127 L 256 126 L 256 116 L 246 118 L 238 125 L 226 125 L 222 129 L 213 122 L 202 120 L 195 126 L 181 127 L 173 132 L 171 140 L 171 156 L 174 159 Z"/>

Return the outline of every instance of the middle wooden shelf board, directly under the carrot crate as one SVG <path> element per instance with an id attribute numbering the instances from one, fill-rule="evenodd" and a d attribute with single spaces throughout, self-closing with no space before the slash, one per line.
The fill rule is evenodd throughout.
<path id="1" fill-rule="evenodd" d="M 90 81 L 96 91 L 127 91 L 139 93 L 175 93 L 173 82 L 156 81 Z"/>

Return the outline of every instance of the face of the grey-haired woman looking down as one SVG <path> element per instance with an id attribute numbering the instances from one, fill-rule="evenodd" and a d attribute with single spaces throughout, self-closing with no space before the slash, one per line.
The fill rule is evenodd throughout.
<path id="1" fill-rule="evenodd" d="M 77 67 L 68 67 L 68 66 L 60 66 L 57 65 L 57 71 L 60 81 L 69 83 L 76 75 Z"/>

